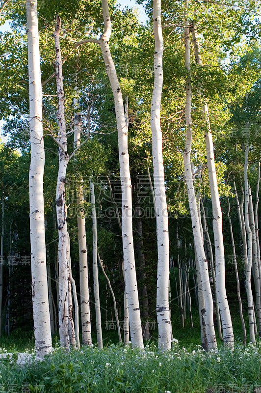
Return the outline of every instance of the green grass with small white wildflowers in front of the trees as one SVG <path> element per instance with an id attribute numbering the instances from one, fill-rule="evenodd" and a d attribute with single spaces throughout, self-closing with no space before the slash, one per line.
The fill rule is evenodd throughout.
<path id="1" fill-rule="evenodd" d="M 36 364 L 0 361 L 1 393 L 252 393 L 260 387 L 260 343 L 209 353 L 177 342 L 168 353 L 154 343 L 144 351 L 109 345 L 66 353 L 57 347 Z"/>

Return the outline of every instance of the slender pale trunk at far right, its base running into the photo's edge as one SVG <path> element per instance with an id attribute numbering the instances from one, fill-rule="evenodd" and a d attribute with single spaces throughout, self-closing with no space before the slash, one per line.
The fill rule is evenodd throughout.
<path id="1" fill-rule="evenodd" d="M 255 227 L 255 217 L 254 217 L 254 209 L 253 209 L 253 201 L 251 194 L 251 187 L 249 184 L 248 187 L 249 194 L 249 225 L 252 231 L 252 271 L 255 282 L 255 291 L 256 291 L 256 312 L 258 317 L 258 328 L 259 328 L 259 336 L 261 335 L 261 297 L 260 297 L 260 266 L 258 260 L 258 248 L 257 248 L 257 239 L 256 239 L 256 227 Z M 255 322 L 255 320 L 254 320 Z"/>

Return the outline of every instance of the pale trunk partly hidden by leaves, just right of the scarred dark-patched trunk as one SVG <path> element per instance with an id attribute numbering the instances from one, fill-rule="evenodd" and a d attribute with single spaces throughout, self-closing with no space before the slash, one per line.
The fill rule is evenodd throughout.
<path id="1" fill-rule="evenodd" d="M 78 100 L 74 99 L 75 109 L 78 109 Z M 81 133 L 81 113 L 75 113 L 74 118 L 74 148 L 80 145 Z M 81 314 L 81 335 L 82 344 L 91 345 L 91 314 L 90 314 L 90 297 L 89 297 L 89 279 L 88 279 L 88 256 L 86 245 L 86 229 L 83 206 L 83 179 L 79 175 L 79 184 L 77 187 L 77 226 L 78 226 L 78 248 L 79 248 L 79 274 L 80 274 L 80 314 Z"/>

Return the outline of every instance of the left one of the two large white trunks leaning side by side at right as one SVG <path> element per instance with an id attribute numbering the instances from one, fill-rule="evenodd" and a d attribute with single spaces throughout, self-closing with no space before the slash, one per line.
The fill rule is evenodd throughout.
<path id="1" fill-rule="evenodd" d="M 186 1 L 187 9 L 187 1 Z M 191 147 L 192 147 L 192 118 L 191 118 L 191 79 L 190 79 L 190 39 L 189 39 L 189 25 L 187 19 L 187 13 L 185 12 L 185 24 L 184 28 L 184 43 L 185 43 L 185 65 L 189 73 L 186 81 L 186 104 L 185 104 L 185 118 L 186 118 L 186 142 L 183 152 L 183 162 L 185 168 L 185 180 L 187 185 L 189 209 L 192 221 L 192 230 L 194 236 L 194 244 L 198 262 L 198 285 L 202 287 L 202 293 L 204 296 L 205 307 L 200 309 L 200 314 L 203 318 L 203 325 L 206 331 L 207 342 L 204 342 L 205 349 L 217 348 L 214 321 L 213 321 L 213 299 L 211 294 L 210 282 L 209 282 L 209 269 L 208 260 L 205 255 L 203 245 L 203 231 L 201 232 L 200 222 L 200 205 L 197 205 L 195 196 L 195 189 L 193 184 L 193 174 L 191 168 Z M 198 209 L 199 207 L 199 209 Z M 200 302 L 199 302 L 200 303 Z M 202 302 L 201 302 L 202 303 Z"/>

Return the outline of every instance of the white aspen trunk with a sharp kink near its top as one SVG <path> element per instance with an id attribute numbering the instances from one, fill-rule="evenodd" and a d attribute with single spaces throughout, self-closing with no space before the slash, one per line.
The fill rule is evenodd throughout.
<path id="1" fill-rule="evenodd" d="M 113 92 L 118 129 L 120 177 L 122 190 L 122 242 L 124 269 L 126 277 L 126 290 L 130 316 L 130 337 L 133 346 L 143 347 L 132 235 L 132 200 L 128 151 L 128 132 L 125 121 L 122 92 L 108 44 L 111 35 L 111 20 L 107 0 L 102 0 L 102 7 L 104 17 L 104 33 L 102 34 L 99 42 L 104 57 L 104 63 L 106 65 L 106 73 L 108 75 Z"/>

